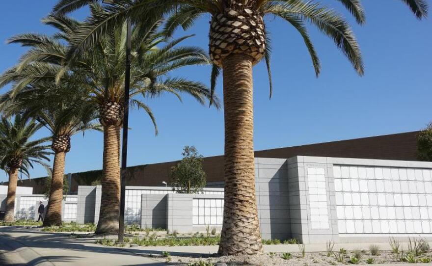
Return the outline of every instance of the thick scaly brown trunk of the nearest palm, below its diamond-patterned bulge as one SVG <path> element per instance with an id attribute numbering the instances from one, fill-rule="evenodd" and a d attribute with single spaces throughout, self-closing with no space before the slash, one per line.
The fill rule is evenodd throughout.
<path id="1" fill-rule="evenodd" d="M 252 57 L 223 59 L 225 196 L 219 254 L 262 252 L 255 198 Z"/>

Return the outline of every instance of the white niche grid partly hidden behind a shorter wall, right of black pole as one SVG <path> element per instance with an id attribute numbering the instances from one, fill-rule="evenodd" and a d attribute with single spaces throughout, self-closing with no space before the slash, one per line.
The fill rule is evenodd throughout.
<path id="1" fill-rule="evenodd" d="M 141 223 L 141 194 L 168 194 L 173 190 L 158 189 L 126 189 L 125 222 Z M 223 194 L 221 191 L 202 191 L 201 194 Z"/>

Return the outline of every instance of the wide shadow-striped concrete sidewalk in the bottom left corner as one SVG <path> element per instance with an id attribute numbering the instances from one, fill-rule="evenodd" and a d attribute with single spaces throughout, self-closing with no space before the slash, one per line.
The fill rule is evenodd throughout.
<path id="1" fill-rule="evenodd" d="M 0 227 L 0 257 L 0 265 L 13 266 L 166 265 L 129 250 L 20 227 Z"/>

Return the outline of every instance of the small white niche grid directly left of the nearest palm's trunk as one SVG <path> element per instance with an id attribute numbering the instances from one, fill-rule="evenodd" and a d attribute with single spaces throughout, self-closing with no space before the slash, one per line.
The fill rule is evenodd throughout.
<path id="1" fill-rule="evenodd" d="M 223 199 L 193 199 L 193 225 L 222 225 Z"/>

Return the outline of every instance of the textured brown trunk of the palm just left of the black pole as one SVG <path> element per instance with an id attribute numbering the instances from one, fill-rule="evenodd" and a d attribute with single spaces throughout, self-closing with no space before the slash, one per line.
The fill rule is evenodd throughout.
<path id="1" fill-rule="evenodd" d="M 96 234 L 118 233 L 120 211 L 120 127 L 104 127 L 101 210 Z"/>

